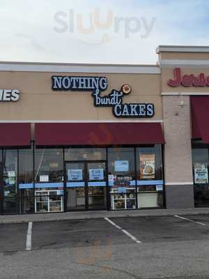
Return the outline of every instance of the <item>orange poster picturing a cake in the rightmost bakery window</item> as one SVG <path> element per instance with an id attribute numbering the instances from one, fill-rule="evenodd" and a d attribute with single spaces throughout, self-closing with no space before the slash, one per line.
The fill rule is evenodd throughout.
<path id="1" fill-rule="evenodd" d="M 155 179 L 155 154 L 141 154 L 139 165 L 140 179 Z"/>

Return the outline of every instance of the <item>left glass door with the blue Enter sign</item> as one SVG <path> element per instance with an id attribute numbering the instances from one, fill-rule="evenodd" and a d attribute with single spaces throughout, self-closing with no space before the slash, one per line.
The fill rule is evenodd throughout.
<path id="1" fill-rule="evenodd" d="M 67 211 L 86 209 L 85 163 L 65 163 Z"/>

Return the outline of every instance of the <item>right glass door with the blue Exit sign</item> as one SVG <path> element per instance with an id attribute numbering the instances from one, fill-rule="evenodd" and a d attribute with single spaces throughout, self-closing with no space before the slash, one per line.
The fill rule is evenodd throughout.
<path id="1" fill-rule="evenodd" d="M 88 209 L 107 209 L 106 163 L 88 162 Z"/>

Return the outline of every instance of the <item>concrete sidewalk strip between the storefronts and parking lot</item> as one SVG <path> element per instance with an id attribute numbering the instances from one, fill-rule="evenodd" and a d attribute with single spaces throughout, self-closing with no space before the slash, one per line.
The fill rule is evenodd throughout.
<path id="1" fill-rule="evenodd" d="M 196 215 L 209 214 L 209 208 L 199 209 L 146 209 L 146 210 L 126 210 L 126 211 L 79 211 L 65 213 L 39 213 L 23 215 L 0 216 L 0 223 L 28 223 L 75 219 L 95 219 L 95 218 L 120 218 L 120 217 L 142 217 L 142 216 L 173 216 L 173 215 Z"/>

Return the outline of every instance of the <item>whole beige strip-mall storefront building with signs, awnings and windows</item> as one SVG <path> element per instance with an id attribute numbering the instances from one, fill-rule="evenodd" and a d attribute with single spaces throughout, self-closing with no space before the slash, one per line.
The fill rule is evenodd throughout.
<path id="1" fill-rule="evenodd" d="M 209 206 L 209 47 L 157 66 L 0 63 L 0 213 Z"/>

